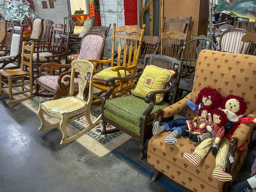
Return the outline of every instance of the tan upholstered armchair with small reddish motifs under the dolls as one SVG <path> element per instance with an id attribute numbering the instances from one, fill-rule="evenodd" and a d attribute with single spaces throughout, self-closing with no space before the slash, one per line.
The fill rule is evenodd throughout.
<path id="1" fill-rule="evenodd" d="M 154 116 L 154 122 L 165 122 L 165 118 L 174 116 L 187 110 L 186 117 L 193 118 L 196 113 L 187 107 L 188 100 L 196 100 L 198 93 L 204 87 L 213 87 L 223 97 L 234 94 L 243 97 L 247 103 L 245 116 L 256 117 L 255 112 L 255 56 L 212 50 L 202 50 L 197 58 L 193 89 L 185 98 L 173 105 L 158 110 Z M 248 145 L 251 140 L 254 124 L 241 123 L 230 140 L 227 156 L 234 157 L 234 162 L 228 160 L 226 172 L 233 175 L 241 168 L 247 154 Z M 230 191 L 230 181 L 223 182 L 212 177 L 215 167 L 215 157 L 211 150 L 203 158 L 201 164 L 195 166 L 190 164 L 183 153 L 193 153 L 198 143 L 188 138 L 178 137 L 178 142 L 171 145 L 164 142 L 164 138 L 170 132 L 163 132 L 154 135 L 148 142 L 148 163 L 153 165 L 156 172 L 153 180 L 156 180 L 159 172 L 167 175 L 173 181 L 192 191 Z M 238 151 L 237 147 L 242 146 L 243 150 Z"/>

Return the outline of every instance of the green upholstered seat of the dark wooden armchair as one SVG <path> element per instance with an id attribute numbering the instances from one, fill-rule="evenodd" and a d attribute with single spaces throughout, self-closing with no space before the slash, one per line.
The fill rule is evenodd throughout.
<path id="1" fill-rule="evenodd" d="M 137 106 L 137 107 L 129 107 Z M 154 113 L 157 109 L 163 109 L 169 106 L 166 102 L 161 102 L 159 105 L 155 105 L 151 111 L 147 122 L 153 120 Z M 134 95 L 126 95 L 124 97 L 117 97 L 113 99 L 107 99 L 105 103 L 104 116 L 132 131 L 133 133 L 140 135 L 140 117 L 145 109 L 148 107 L 143 99 L 135 97 Z M 124 118 L 126 121 L 124 121 Z"/>

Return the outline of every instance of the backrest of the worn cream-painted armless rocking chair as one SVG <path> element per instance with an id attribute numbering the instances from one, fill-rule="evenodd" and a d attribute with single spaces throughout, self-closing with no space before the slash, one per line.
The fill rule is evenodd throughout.
<path id="1" fill-rule="evenodd" d="M 89 94 L 87 97 L 87 103 L 88 105 L 91 105 L 92 102 L 92 94 L 93 94 L 93 70 L 94 70 L 94 65 L 90 61 L 86 60 L 79 60 L 76 59 L 71 62 L 71 76 L 70 76 L 70 96 L 73 96 L 74 94 L 74 89 L 75 89 L 75 76 L 77 71 L 79 71 L 79 77 L 78 77 L 78 94 L 76 95 L 77 98 L 85 100 L 84 98 L 84 90 L 85 87 L 87 86 L 87 82 L 90 81 L 89 83 Z M 90 109 L 90 106 L 88 106 Z"/>

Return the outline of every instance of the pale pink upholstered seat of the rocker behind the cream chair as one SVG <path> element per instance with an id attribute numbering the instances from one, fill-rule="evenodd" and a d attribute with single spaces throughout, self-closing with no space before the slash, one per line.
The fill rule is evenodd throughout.
<path id="1" fill-rule="evenodd" d="M 67 77 L 68 77 L 68 75 L 67 75 Z M 58 78 L 59 78 L 58 75 L 45 75 L 45 76 L 39 77 L 37 79 L 37 81 L 40 83 L 43 83 L 44 85 L 46 85 L 48 87 L 51 87 L 54 90 L 59 90 L 60 86 L 58 84 Z M 62 81 L 62 83 L 66 83 L 66 82 Z M 78 81 L 76 78 L 75 78 L 74 84 L 75 84 L 75 90 L 77 90 L 78 89 Z M 68 89 L 69 89 L 69 87 L 68 87 Z"/>

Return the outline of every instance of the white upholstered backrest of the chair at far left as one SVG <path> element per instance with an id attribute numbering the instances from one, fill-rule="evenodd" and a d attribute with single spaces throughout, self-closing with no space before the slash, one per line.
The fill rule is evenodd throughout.
<path id="1" fill-rule="evenodd" d="M 12 42 L 10 47 L 10 55 L 17 55 L 20 51 L 22 27 L 15 26 L 12 34 Z"/>

